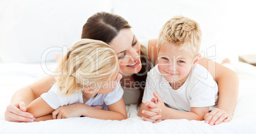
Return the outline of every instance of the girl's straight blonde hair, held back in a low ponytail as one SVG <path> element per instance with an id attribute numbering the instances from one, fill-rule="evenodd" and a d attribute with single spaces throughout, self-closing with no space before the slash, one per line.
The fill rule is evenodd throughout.
<path id="1" fill-rule="evenodd" d="M 93 39 L 81 39 L 68 50 L 57 67 L 62 75 L 55 77 L 60 93 L 70 95 L 93 88 L 95 92 L 89 98 L 94 97 L 102 83 L 117 71 L 117 54 L 108 44 Z"/>

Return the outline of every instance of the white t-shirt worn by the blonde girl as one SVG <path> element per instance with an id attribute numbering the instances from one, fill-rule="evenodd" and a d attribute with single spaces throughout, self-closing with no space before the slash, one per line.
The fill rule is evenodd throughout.
<path id="1" fill-rule="evenodd" d="M 84 103 L 82 91 L 73 93 L 71 95 L 60 95 L 59 86 L 57 84 L 54 84 L 47 93 L 43 93 L 43 95 L 41 95 L 41 98 L 43 98 L 43 100 L 45 100 L 45 102 L 53 109 L 58 109 L 60 106 L 63 105 L 84 103 L 90 106 L 101 105 L 104 107 L 104 110 L 108 110 L 107 105 L 118 102 L 118 100 L 122 98 L 123 93 L 124 90 L 121 88 L 120 82 L 118 82 L 117 87 L 114 91 L 111 91 L 108 94 L 98 93 L 96 97 L 93 97 Z"/>

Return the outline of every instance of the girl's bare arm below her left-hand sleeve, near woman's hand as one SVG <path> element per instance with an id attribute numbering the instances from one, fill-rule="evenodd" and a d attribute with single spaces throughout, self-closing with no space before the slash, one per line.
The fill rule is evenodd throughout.
<path id="1" fill-rule="evenodd" d="M 48 105 L 43 98 L 38 97 L 27 106 L 27 112 L 30 112 L 34 117 L 41 117 L 50 114 L 54 109 Z"/>

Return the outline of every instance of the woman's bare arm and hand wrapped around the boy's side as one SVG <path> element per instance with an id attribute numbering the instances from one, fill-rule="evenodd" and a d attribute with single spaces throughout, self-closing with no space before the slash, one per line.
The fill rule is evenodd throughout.
<path id="1" fill-rule="evenodd" d="M 208 58 L 199 60 L 199 64 L 208 69 L 218 84 L 218 109 L 206 114 L 206 117 L 204 117 L 206 123 L 213 125 L 220 124 L 225 119 L 227 119 L 226 121 L 231 121 L 238 99 L 238 75 L 233 70 Z"/>

